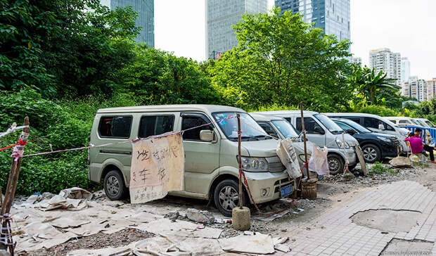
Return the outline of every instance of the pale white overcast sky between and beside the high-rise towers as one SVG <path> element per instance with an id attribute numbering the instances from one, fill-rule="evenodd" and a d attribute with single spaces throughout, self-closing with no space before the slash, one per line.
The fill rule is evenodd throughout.
<path id="1" fill-rule="evenodd" d="M 387 47 L 411 75 L 436 77 L 435 10 L 435 0 L 351 0 L 352 53 L 368 64 L 369 50 Z M 155 47 L 205 60 L 205 0 L 155 0 Z"/>

